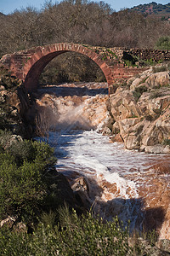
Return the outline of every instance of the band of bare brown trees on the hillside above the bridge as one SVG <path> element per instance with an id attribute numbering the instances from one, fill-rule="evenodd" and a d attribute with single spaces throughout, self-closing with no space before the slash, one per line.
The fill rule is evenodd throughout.
<path id="1" fill-rule="evenodd" d="M 0 22 L 0 55 L 60 42 L 153 48 L 170 35 L 170 23 L 157 15 L 115 12 L 104 2 L 87 0 L 46 2 L 40 11 L 26 8 L 0 15 Z"/>

